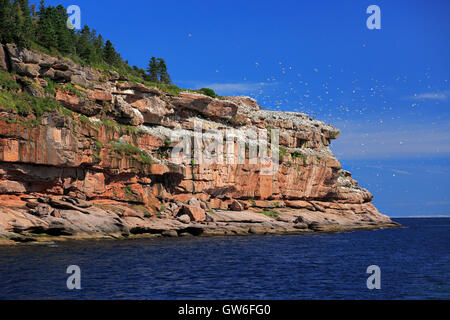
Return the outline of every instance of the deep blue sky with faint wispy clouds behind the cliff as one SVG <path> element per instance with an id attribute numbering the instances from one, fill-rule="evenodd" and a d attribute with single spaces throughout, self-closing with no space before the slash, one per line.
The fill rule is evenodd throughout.
<path id="1" fill-rule="evenodd" d="M 131 65 L 165 58 L 180 87 L 335 125 L 333 151 L 381 212 L 450 215 L 448 0 L 46 3 L 80 6 Z"/>

